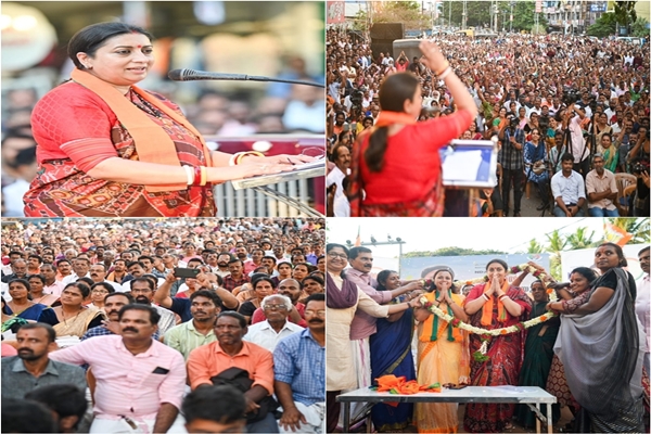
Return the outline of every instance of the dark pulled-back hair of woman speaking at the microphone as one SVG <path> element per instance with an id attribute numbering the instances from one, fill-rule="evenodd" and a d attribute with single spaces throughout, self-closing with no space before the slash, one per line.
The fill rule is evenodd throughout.
<path id="1" fill-rule="evenodd" d="M 75 66 L 79 69 L 84 69 L 84 65 L 77 59 L 77 53 L 86 53 L 93 58 L 100 47 L 104 44 L 107 39 L 115 36 L 138 33 L 146 36 L 152 40 L 152 35 L 144 30 L 142 27 L 133 26 L 126 23 L 97 23 L 90 26 L 84 27 L 77 31 L 68 42 L 67 53 Z"/>

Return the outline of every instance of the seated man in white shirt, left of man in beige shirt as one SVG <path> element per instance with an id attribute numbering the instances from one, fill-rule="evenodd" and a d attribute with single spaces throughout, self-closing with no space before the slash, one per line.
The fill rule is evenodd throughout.
<path id="1" fill-rule="evenodd" d="M 580 175 L 572 170 L 574 157 L 570 153 L 561 157 L 562 170 L 551 177 L 551 193 L 556 201 L 553 215 L 557 217 L 584 217 L 586 202 L 585 184 Z"/>

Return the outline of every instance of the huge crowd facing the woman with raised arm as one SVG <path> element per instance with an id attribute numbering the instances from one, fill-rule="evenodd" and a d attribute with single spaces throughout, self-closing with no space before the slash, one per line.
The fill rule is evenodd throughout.
<path id="1" fill-rule="evenodd" d="M 499 149 L 497 183 L 477 192 L 472 215 L 521 216 L 524 193 L 556 216 L 649 216 L 649 38 L 641 46 L 561 35 L 432 39 L 478 108 L 458 139 Z M 420 56 L 379 53 L 359 34 L 334 28 L 327 47 L 328 186 L 333 215 L 345 217 L 356 138 L 373 130 L 386 77 L 418 77 L 419 123 L 457 107 Z"/>

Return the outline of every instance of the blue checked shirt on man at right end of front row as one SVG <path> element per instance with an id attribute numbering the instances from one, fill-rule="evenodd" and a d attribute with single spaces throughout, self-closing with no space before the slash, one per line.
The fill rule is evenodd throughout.
<path id="1" fill-rule="evenodd" d="M 311 406 L 326 400 L 326 348 L 309 329 L 281 340 L 273 350 L 273 378 L 292 387 L 295 401 Z"/>

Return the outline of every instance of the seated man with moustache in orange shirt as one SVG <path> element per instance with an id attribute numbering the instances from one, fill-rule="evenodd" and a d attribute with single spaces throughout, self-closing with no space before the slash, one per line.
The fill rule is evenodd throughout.
<path id="1" fill-rule="evenodd" d="M 224 311 L 217 316 L 215 335 L 217 342 L 200 346 L 188 358 L 188 379 L 192 390 L 212 386 L 213 378 L 229 368 L 239 368 L 248 373 L 253 381 L 244 392 L 246 414 L 258 412 L 260 403 L 273 394 L 273 356 L 267 349 L 245 342 L 246 319 L 244 316 Z M 253 414 L 252 414 L 253 413 Z M 278 424 L 271 412 L 259 421 L 246 423 L 247 433 L 278 433 Z"/>

